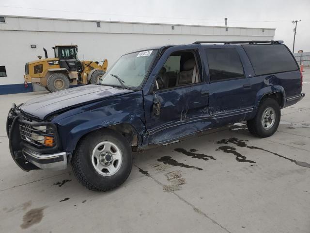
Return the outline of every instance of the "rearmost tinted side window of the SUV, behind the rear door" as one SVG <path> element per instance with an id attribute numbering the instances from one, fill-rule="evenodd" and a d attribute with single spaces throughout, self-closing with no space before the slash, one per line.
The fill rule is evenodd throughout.
<path id="1" fill-rule="evenodd" d="M 284 45 L 243 45 L 256 75 L 297 70 L 293 56 Z"/>

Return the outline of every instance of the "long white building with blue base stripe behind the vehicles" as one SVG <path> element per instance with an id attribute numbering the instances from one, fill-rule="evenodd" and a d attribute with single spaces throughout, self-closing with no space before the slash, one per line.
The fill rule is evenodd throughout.
<path id="1" fill-rule="evenodd" d="M 215 26 L 0 16 L 0 94 L 32 91 L 31 85 L 24 87 L 25 63 L 44 57 L 43 47 L 53 57 L 55 45 L 78 45 L 80 60 L 107 58 L 111 66 L 122 54 L 148 46 L 273 40 L 274 34 L 271 28 L 228 27 L 226 31 Z"/>

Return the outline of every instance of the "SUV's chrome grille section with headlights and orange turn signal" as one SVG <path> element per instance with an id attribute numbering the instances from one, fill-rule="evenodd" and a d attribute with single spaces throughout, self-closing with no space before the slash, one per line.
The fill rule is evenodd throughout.
<path id="1" fill-rule="evenodd" d="M 32 126 L 20 122 L 19 133 L 23 141 L 30 143 L 37 148 L 52 148 L 56 145 L 54 130 L 48 125 Z"/>

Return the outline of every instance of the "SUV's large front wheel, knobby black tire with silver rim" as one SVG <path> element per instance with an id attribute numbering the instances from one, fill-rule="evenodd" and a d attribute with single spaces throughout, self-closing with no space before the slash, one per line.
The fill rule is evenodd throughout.
<path id="1" fill-rule="evenodd" d="M 78 144 L 71 165 L 78 181 L 90 190 L 107 191 L 124 183 L 132 168 L 131 149 L 119 133 L 90 133 Z"/>

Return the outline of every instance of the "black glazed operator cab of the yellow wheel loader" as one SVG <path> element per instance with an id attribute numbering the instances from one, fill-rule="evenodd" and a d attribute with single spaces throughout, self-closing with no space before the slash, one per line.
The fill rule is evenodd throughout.
<path id="1" fill-rule="evenodd" d="M 77 45 L 55 46 L 53 49 L 61 68 L 66 68 L 68 71 L 81 71 L 82 64 L 78 60 Z"/>

